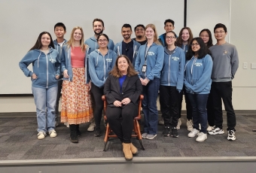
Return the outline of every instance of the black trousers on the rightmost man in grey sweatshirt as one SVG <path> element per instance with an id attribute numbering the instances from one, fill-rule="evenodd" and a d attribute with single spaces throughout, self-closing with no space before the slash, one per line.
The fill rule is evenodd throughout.
<path id="1" fill-rule="evenodd" d="M 235 130 L 236 114 L 232 105 L 232 82 L 212 82 L 212 102 L 215 113 L 215 126 L 222 129 L 223 114 L 222 102 L 223 100 L 225 111 L 227 111 L 227 130 Z"/>

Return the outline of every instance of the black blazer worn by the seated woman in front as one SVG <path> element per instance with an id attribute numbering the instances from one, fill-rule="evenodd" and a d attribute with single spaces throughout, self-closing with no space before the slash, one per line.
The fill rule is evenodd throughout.
<path id="1" fill-rule="evenodd" d="M 114 101 L 122 101 L 125 98 L 131 100 L 130 104 L 138 105 L 139 96 L 142 94 L 142 82 L 139 76 L 126 76 L 123 81 L 122 93 L 120 93 L 119 78 L 109 74 L 105 81 L 104 94 L 106 96 L 108 106 L 115 107 Z"/>

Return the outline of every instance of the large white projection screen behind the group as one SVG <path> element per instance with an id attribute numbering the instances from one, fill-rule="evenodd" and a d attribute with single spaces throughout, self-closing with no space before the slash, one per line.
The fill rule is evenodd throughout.
<path id="1" fill-rule="evenodd" d="M 129 11 L 129 12 L 128 12 Z M 146 12 L 148 11 L 148 12 Z M 161 0 L 1 0 L 0 1 L 0 94 L 32 93 L 31 81 L 25 77 L 18 63 L 35 44 L 38 35 L 47 31 L 55 38 L 53 26 L 66 25 L 66 39 L 75 26 L 84 29 L 84 38 L 93 36 L 93 19 L 105 23 L 105 34 L 121 41 L 120 29 L 124 23 L 134 28 L 137 24 L 154 23 L 157 32 L 164 32 L 164 20 L 175 20 L 176 29 L 181 29 L 184 19 L 184 1 Z M 135 35 L 133 35 L 134 37 Z"/>

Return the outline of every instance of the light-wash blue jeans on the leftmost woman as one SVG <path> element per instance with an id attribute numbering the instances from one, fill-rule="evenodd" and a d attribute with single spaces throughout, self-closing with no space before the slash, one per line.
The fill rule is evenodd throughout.
<path id="1" fill-rule="evenodd" d="M 50 132 L 55 129 L 55 108 L 58 86 L 36 88 L 32 86 L 35 99 L 38 132 Z"/>

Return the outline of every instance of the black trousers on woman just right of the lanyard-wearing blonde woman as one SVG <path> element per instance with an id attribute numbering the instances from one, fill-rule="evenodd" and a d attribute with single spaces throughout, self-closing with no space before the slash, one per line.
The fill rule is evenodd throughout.
<path id="1" fill-rule="evenodd" d="M 177 126 L 181 96 L 182 93 L 178 93 L 176 86 L 160 85 L 160 111 L 163 115 L 164 126 Z"/>

